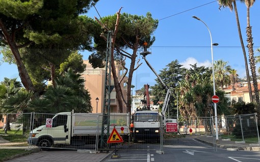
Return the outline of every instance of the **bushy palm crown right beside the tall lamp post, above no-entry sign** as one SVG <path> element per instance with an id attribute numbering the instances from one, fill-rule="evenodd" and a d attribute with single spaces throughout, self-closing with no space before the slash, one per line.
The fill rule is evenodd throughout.
<path id="1" fill-rule="evenodd" d="M 228 74 L 231 71 L 231 67 L 227 66 L 227 63 L 227 61 L 223 61 L 222 59 L 214 63 L 216 84 L 219 84 L 222 90 L 224 89 L 224 85 L 228 85 L 229 83 Z"/>

